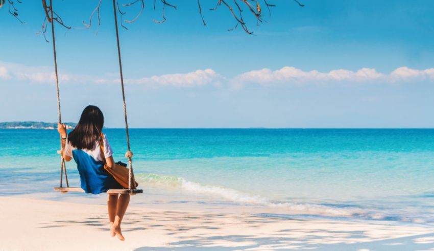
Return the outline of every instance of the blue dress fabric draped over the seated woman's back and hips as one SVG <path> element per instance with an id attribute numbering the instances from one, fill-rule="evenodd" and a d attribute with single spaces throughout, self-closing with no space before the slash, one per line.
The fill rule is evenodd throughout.
<path id="1" fill-rule="evenodd" d="M 74 161 L 80 173 L 81 188 L 86 193 L 100 194 L 109 189 L 123 189 L 105 169 L 102 161 L 95 160 L 87 152 L 74 149 Z"/>

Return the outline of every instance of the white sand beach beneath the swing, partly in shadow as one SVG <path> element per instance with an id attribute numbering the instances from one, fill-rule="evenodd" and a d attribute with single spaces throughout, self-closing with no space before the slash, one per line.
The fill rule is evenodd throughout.
<path id="1" fill-rule="evenodd" d="M 434 229 L 422 225 L 138 206 L 121 242 L 103 205 L 0 197 L 0 250 L 434 250 Z"/>

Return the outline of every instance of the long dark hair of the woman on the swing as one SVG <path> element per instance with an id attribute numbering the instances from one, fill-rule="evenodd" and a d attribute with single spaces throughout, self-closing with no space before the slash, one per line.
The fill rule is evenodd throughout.
<path id="1" fill-rule="evenodd" d="M 69 132 L 68 142 L 77 149 L 91 150 L 101 138 L 103 125 L 103 112 L 97 106 L 88 105 L 81 113 L 76 128 Z"/>

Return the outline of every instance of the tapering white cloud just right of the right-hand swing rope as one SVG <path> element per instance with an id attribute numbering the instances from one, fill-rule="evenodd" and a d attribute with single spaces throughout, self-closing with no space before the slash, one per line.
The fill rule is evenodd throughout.
<path id="1" fill-rule="evenodd" d="M 197 70 L 183 74 L 165 74 L 149 78 L 126 79 L 126 83 L 147 84 L 147 85 L 171 85 L 177 87 L 202 86 L 220 78 L 212 69 Z"/>

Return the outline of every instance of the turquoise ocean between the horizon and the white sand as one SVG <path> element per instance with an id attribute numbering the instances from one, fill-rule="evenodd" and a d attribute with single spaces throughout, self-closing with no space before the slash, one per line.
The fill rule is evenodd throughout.
<path id="1" fill-rule="evenodd" d="M 125 129 L 104 129 L 126 162 Z M 434 129 L 130 129 L 136 206 L 434 224 Z M 62 194 L 56 130 L 0 129 L 0 196 Z M 79 186 L 74 162 L 70 186 Z"/>

